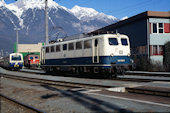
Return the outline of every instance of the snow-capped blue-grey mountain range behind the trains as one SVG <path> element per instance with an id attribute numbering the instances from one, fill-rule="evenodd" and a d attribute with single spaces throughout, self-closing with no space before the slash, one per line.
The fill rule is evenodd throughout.
<path id="1" fill-rule="evenodd" d="M 19 43 L 38 43 L 45 39 L 45 0 L 0 1 L 0 49 L 11 51 L 19 30 Z M 61 29 L 67 35 L 87 33 L 118 21 L 92 8 L 75 6 L 72 9 L 48 0 L 49 37 Z M 8 43 L 8 47 L 3 42 Z"/>

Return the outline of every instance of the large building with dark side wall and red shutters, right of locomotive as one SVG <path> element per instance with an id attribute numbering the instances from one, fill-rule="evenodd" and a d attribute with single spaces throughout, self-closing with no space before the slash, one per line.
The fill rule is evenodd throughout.
<path id="1" fill-rule="evenodd" d="M 116 32 L 129 36 L 132 57 L 163 64 L 164 45 L 170 41 L 170 12 L 146 11 L 89 34 Z"/>

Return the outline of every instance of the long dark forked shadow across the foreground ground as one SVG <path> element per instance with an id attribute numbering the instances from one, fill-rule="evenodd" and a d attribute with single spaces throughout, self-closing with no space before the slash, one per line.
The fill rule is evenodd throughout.
<path id="1" fill-rule="evenodd" d="M 78 91 L 61 90 L 61 89 L 57 89 L 55 87 L 52 87 L 49 85 L 44 85 L 44 84 L 41 86 L 48 90 L 56 91 L 57 93 L 59 93 L 56 95 L 55 94 L 42 95 L 41 96 L 42 99 L 49 99 L 49 98 L 53 98 L 58 95 L 60 95 L 60 96 L 62 95 L 64 97 L 71 98 L 72 100 L 83 105 L 84 107 L 86 107 L 93 113 L 98 113 L 98 112 L 102 112 L 102 113 L 106 113 L 106 112 L 132 113 L 132 111 L 122 109 L 113 103 L 109 103 L 109 102 L 106 102 L 106 101 L 103 101 L 100 99 L 90 97 L 90 96 L 83 94 L 81 92 L 78 92 Z"/>

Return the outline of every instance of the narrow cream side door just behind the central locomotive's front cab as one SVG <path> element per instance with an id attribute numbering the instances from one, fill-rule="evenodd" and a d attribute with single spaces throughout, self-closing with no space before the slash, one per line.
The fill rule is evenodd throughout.
<path id="1" fill-rule="evenodd" d="M 93 63 L 99 63 L 99 46 L 98 39 L 93 40 Z"/>

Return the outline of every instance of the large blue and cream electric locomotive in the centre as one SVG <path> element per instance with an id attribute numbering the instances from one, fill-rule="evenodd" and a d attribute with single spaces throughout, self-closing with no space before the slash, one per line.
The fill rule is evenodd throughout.
<path id="1" fill-rule="evenodd" d="M 56 73 L 123 73 L 132 67 L 129 38 L 102 34 L 47 44 L 42 47 L 41 67 Z"/>

